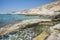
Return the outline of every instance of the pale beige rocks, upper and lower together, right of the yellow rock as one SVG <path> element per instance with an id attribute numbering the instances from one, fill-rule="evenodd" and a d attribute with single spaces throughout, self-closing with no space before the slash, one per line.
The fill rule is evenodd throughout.
<path id="1" fill-rule="evenodd" d="M 60 24 L 50 28 L 51 34 L 46 40 L 60 40 Z"/>

